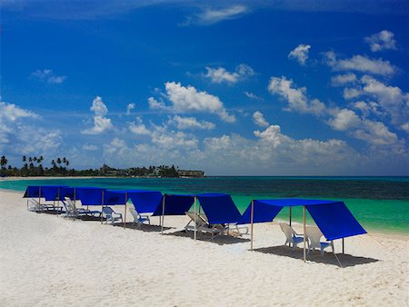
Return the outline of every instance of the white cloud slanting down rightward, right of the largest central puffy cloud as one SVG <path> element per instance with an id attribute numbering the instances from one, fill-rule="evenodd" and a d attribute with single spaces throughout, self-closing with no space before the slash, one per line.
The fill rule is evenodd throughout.
<path id="1" fill-rule="evenodd" d="M 278 94 L 288 102 L 284 110 L 315 115 L 322 114 L 325 110 L 325 105 L 318 99 L 309 100 L 307 98 L 305 87 L 297 88 L 292 79 L 284 76 L 271 77 L 268 90 L 271 94 Z"/>

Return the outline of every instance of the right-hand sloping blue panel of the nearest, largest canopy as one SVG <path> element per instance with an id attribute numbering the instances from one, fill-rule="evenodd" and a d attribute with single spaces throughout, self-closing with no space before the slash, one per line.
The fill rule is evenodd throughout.
<path id="1" fill-rule="evenodd" d="M 342 202 L 320 205 L 309 205 L 306 209 L 313 217 L 316 225 L 324 234 L 326 240 L 336 240 L 366 231 L 354 215 Z"/>

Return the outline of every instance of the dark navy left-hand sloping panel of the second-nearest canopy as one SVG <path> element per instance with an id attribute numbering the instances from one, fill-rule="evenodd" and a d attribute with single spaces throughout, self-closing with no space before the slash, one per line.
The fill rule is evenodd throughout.
<path id="1" fill-rule="evenodd" d="M 185 215 L 189 211 L 192 204 L 195 203 L 195 196 L 192 195 L 168 195 L 162 197 L 161 203 L 156 207 L 153 216 L 162 215 L 162 202 L 165 197 L 165 213 L 164 215 Z"/>

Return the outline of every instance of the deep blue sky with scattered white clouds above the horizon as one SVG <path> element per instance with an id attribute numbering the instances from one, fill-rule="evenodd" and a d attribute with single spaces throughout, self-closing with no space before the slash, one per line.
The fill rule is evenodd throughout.
<path id="1" fill-rule="evenodd" d="M 408 6 L 6 0 L 0 153 L 408 175 Z"/>

